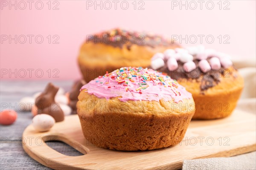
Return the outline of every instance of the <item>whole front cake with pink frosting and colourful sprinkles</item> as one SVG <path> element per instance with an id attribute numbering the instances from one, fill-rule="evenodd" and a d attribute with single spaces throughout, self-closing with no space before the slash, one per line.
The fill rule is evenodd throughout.
<path id="1" fill-rule="evenodd" d="M 112 150 L 178 144 L 195 112 L 192 95 L 152 69 L 117 69 L 84 85 L 78 98 L 85 138 Z"/>

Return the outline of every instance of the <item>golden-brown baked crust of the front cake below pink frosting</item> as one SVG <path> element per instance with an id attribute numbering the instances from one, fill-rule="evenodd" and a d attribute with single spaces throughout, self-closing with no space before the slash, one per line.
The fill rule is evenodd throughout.
<path id="1" fill-rule="evenodd" d="M 117 98 L 99 99 L 85 90 L 79 95 L 77 107 L 86 139 L 112 150 L 153 150 L 178 144 L 195 111 L 193 99 L 124 104 Z"/>

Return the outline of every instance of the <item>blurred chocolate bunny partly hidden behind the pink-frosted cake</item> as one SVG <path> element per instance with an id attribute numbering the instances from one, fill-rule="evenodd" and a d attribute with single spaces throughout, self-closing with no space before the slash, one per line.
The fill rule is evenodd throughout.
<path id="1" fill-rule="evenodd" d="M 69 106 L 70 108 L 72 108 L 72 114 L 76 114 L 76 103 L 78 102 L 78 96 L 80 93 L 80 89 L 83 85 L 85 85 L 86 82 L 82 79 L 82 80 L 78 80 L 74 83 L 72 90 L 70 91 L 70 103 Z"/>

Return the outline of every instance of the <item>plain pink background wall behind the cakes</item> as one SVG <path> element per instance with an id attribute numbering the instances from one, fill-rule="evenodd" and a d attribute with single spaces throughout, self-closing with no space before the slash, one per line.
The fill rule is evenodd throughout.
<path id="1" fill-rule="evenodd" d="M 29 3 L 24 4 L 17 1 L 17 9 L 15 6 L 9 6 L 9 0 L 1 0 L 0 12 L 0 34 L 1 34 L 1 48 L 0 48 L 0 66 L 1 66 L 1 79 L 76 79 L 80 77 L 79 68 L 77 66 L 76 58 L 79 53 L 79 48 L 84 42 L 86 35 L 93 34 L 105 29 L 122 27 L 137 31 L 150 31 L 157 34 L 162 34 L 166 37 L 172 35 L 212 35 L 214 42 L 207 43 L 205 37 L 202 44 L 209 48 L 215 48 L 232 55 L 234 58 L 255 59 L 256 52 L 256 1 L 255 0 L 230 0 L 222 1 L 221 10 L 218 4 L 219 1 L 211 1 L 214 4 L 212 10 L 211 3 L 207 1 L 202 4 L 195 4 L 187 1 L 188 9 L 181 6 L 180 1 L 157 1 L 146 0 L 143 1 L 145 5 L 144 10 L 134 10 L 133 0 L 127 1 L 129 7 L 127 10 L 121 8 L 119 1 L 117 9 L 114 9 L 112 0 L 112 8 L 107 10 L 94 9 L 90 6 L 87 9 L 89 1 L 71 1 L 59 0 L 53 4 L 51 2 L 51 9 L 49 10 L 48 0 L 41 1 L 41 4 L 34 1 L 31 9 Z M 27 2 L 27 1 L 25 1 Z M 94 3 L 94 1 L 91 1 Z M 99 1 L 97 1 L 100 3 Z M 8 3 L 8 4 L 6 4 Z M 12 1 L 14 4 L 15 1 Z M 37 6 L 35 6 L 37 3 Z M 59 3 L 59 4 L 58 4 Z M 102 1 L 102 4 L 104 1 Z M 179 3 L 178 6 L 174 6 Z M 186 1 L 183 3 L 186 3 Z M 6 6 L 7 5 L 7 6 Z M 52 10 L 53 6 L 58 5 L 58 10 Z M 108 8 L 108 4 L 105 4 Z M 138 4 L 138 8 L 142 3 Z M 173 6 L 172 6 L 173 5 Z M 223 10 L 224 6 L 228 6 L 229 10 Z M 37 8 L 36 8 L 37 7 Z M 125 4 L 122 6 L 125 8 Z M 189 8 L 190 7 L 190 8 Z M 11 9 L 9 9 L 11 8 Z M 173 9 L 172 9 L 173 8 Z M 26 42 L 22 44 L 23 37 L 20 40 L 5 40 L 6 36 L 19 37 L 20 35 L 26 36 Z M 27 35 L 34 35 L 31 43 Z M 41 35 L 44 41 L 39 44 L 35 41 L 35 36 Z M 49 44 L 47 36 L 51 35 L 52 40 Z M 59 37 L 58 44 L 53 44 L 54 35 Z M 222 36 L 222 42 L 219 43 L 218 36 Z M 223 41 L 227 39 L 224 35 L 228 35 L 230 39 L 224 44 Z M 209 39 L 210 40 L 210 39 Z M 40 38 L 38 38 L 40 41 Z M 192 40 L 194 41 L 194 39 Z M 200 44 L 198 37 L 197 43 Z M 189 42 L 186 44 L 185 40 L 182 45 L 191 45 Z M 15 72 L 17 75 L 5 74 L 6 71 Z M 31 70 L 31 78 L 29 71 Z M 41 70 L 38 70 L 41 69 Z M 49 71 L 49 69 L 51 69 Z M 57 69 L 59 73 L 58 78 L 56 74 Z M 24 70 L 26 75 L 24 76 Z M 35 72 L 37 71 L 37 72 Z M 44 74 L 41 77 L 41 72 Z M 49 75 L 51 72 L 51 75 Z"/>

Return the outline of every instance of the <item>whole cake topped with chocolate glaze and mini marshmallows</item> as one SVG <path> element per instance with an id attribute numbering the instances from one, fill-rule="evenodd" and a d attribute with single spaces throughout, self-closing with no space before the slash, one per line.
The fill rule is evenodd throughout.
<path id="1" fill-rule="evenodd" d="M 156 53 L 151 67 L 167 73 L 192 93 L 196 111 L 192 119 L 229 116 L 244 87 L 243 78 L 227 54 L 204 46 L 168 49 Z"/>

